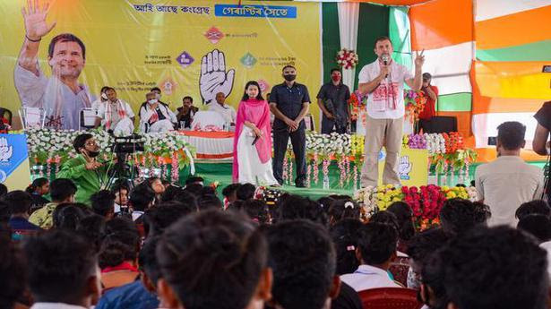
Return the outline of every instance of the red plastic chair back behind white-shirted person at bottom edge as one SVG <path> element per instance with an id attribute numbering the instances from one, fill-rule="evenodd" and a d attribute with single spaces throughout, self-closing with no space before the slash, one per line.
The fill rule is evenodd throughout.
<path id="1" fill-rule="evenodd" d="M 417 291 L 410 288 L 371 288 L 357 292 L 364 309 L 420 309 Z"/>

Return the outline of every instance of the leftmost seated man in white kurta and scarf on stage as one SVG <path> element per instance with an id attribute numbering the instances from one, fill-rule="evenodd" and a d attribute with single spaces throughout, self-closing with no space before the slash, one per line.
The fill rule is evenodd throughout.
<path id="1" fill-rule="evenodd" d="M 96 127 L 101 124 L 107 131 L 116 136 L 126 136 L 133 133 L 133 110 L 130 104 L 116 98 L 116 90 L 106 90 L 108 100 L 99 106 L 96 117 Z"/>

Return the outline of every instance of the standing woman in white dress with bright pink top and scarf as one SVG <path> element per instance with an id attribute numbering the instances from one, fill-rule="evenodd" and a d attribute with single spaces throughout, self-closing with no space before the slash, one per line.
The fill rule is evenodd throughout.
<path id="1" fill-rule="evenodd" d="M 279 185 L 271 170 L 270 107 L 258 82 L 247 82 L 237 108 L 234 138 L 234 183 Z"/>

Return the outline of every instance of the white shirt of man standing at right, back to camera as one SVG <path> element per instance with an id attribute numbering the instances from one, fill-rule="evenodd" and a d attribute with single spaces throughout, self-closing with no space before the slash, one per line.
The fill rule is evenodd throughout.
<path id="1" fill-rule="evenodd" d="M 502 156 L 482 164 L 475 172 L 478 199 L 490 207 L 488 226 L 506 224 L 516 227 L 514 212 L 523 202 L 540 199 L 543 172 L 525 163 L 521 157 Z"/>

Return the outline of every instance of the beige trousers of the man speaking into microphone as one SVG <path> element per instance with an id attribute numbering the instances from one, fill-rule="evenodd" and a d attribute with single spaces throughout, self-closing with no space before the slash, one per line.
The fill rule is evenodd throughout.
<path id="1" fill-rule="evenodd" d="M 362 167 L 361 185 L 377 185 L 378 158 L 381 148 L 386 149 L 383 185 L 399 185 L 398 158 L 400 156 L 404 118 L 375 119 L 366 115 L 366 155 Z"/>

